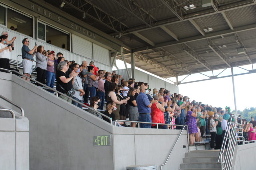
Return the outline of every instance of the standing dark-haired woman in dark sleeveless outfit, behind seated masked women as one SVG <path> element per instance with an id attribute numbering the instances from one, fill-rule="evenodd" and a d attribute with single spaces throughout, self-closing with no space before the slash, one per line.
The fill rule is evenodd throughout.
<path id="1" fill-rule="evenodd" d="M 113 101 L 116 104 L 116 111 L 114 111 L 113 113 L 115 114 L 115 118 L 116 120 L 120 119 L 120 105 L 123 103 L 127 103 L 127 100 L 120 100 L 120 98 L 116 95 L 115 91 L 117 89 L 117 84 L 116 83 L 110 83 L 109 85 L 109 91 L 107 94 L 107 101 Z M 127 98 L 128 99 L 128 98 Z"/>

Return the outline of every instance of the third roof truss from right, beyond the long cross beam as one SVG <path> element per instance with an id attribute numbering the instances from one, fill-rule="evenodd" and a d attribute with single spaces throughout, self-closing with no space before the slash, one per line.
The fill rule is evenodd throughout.
<path id="1" fill-rule="evenodd" d="M 189 56 L 191 56 L 192 58 L 194 58 L 197 62 L 199 62 L 200 64 L 202 64 L 205 68 L 207 68 L 209 71 L 211 71 L 213 69 L 212 66 L 210 66 L 208 63 L 206 63 L 206 61 L 203 59 L 203 57 L 201 57 L 199 54 L 197 54 L 194 50 L 192 50 L 192 48 L 190 46 L 188 46 L 186 43 L 182 44 L 183 47 L 183 51 L 188 54 Z"/>

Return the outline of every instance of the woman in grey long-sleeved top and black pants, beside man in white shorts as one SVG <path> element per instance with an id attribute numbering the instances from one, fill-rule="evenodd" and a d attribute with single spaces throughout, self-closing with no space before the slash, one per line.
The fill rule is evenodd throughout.
<path id="1" fill-rule="evenodd" d="M 39 45 L 36 53 L 36 80 L 45 84 L 45 71 L 47 66 L 47 56 L 43 54 L 44 46 Z M 41 86 L 36 83 L 37 86 Z"/>

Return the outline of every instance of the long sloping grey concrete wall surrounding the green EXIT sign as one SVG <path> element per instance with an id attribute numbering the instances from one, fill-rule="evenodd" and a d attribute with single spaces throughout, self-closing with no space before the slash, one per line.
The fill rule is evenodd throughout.
<path id="1" fill-rule="evenodd" d="M 6 77 L 12 86 L 5 87 Z M 15 75 L 3 73 L 0 79 L 30 121 L 30 170 L 125 170 L 135 164 L 159 169 L 180 132 L 114 127 Z M 93 146 L 94 135 L 109 134 L 112 145 Z M 179 169 L 186 139 L 184 132 L 166 169 Z"/>

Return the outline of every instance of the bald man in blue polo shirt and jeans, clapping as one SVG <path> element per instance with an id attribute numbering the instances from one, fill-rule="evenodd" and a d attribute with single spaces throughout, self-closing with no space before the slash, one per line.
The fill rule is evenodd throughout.
<path id="1" fill-rule="evenodd" d="M 147 95 L 145 94 L 147 87 L 142 85 L 140 86 L 140 93 L 136 98 L 136 103 L 139 111 L 139 122 L 151 122 L 151 105 L 157 100 L 152 100 L 149 102 Z M 151 124 L 140 124 L 141 128 L 151 128 Z"/>

